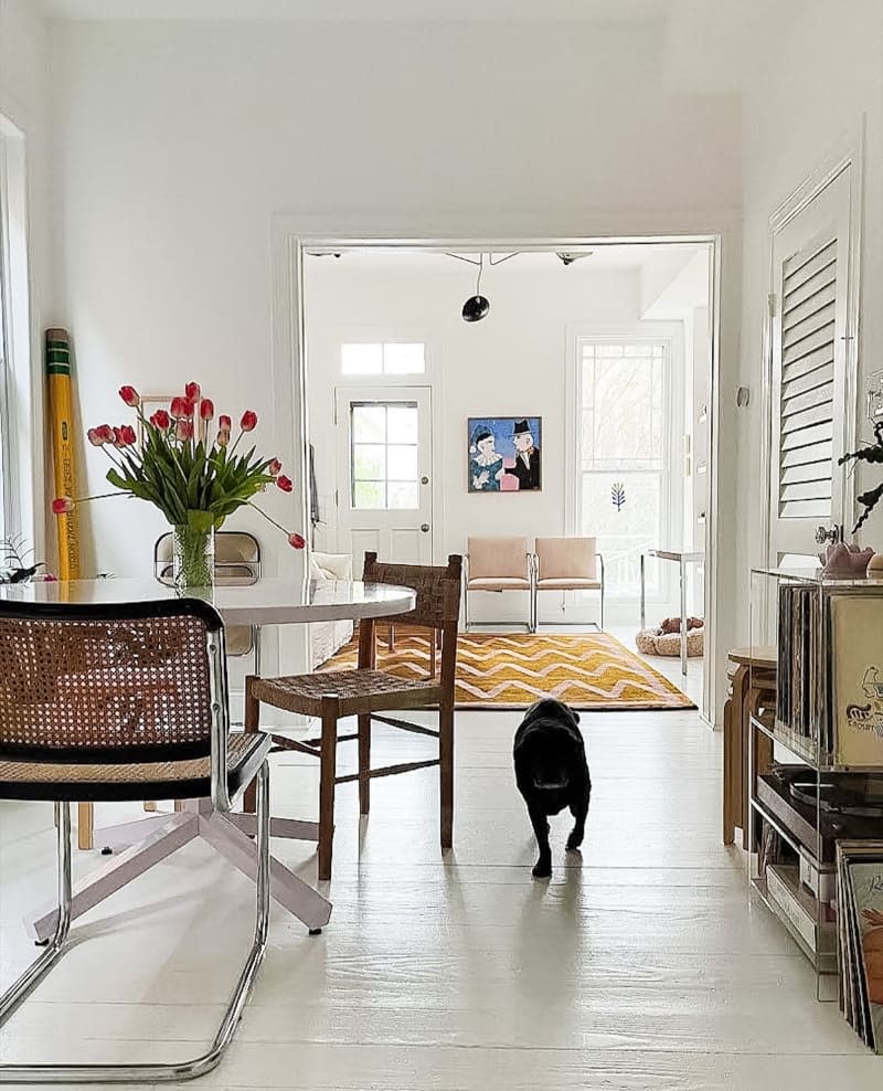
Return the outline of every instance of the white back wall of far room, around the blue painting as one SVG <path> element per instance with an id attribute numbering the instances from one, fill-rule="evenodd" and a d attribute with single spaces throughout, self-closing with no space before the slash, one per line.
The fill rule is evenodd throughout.
<path id="1" fill-rule="evenodd" d="M 361 259 L 364 262 L 365 259 Z M 567 368 L 577 333 L 634 336 L 639 327 L 638 271 L 587 272 L 587 265 L 524 271 L 519 258 L 487 269 L 482 293 L 491 300 L 489 316 L 478 324 L 460 317 L 464 299 L 475 290 L 475 271 L 419 272 L 415 258 L 396 272 L 389 259 L 371 269 L 350 271 L 348 258 L 308 258 L 306 266 L 307 360 L 310 438 L 316 447 L 317 484 L 323 521 L 317 544 L 338 544 L 333 491 L 337 439 L 333 390 L 358 378 L 340 374 L 340 345 L 350 339 L 423 340 L 432 372 L 412 381 L 433 386 L 438 426 L 434 434 L 444 474 L 436 490 L 434 551 L 437 560 L 462 552 L 469 534 L 563 534 L 571 502 L 567 492 Z M 450 259 L 451 263 L 454 259 Z M 591 263 L 587 258 L 586 263 Z M 683 361 L 678 361 L 682 368 Z M 402 377 L 402 384 L 408 378 Z M 466 422 L 469 416 L 542 416 L 543 489 L 535 494 L 476 495 L 466 488 Z M 680 443 L 680 435 L 674 437 Z M 575 512 L 574 512 L 575 515 Z M 678 528 L 673 528 L 677 538 Z M 674 539 L 672 539 L 674 540 Z M 474 615 L 526 616 L 518 596 L 476 595 Z M 663 604 L 668 610 L 672 604 Z M 541 599 L 555 616 L 558 602 Z M 519 614 L 519 610 L 521 613 Z M 596 616 L 597 607 L 592 616 Z M 620 611 L 637 624 L 636 605 Z"/>

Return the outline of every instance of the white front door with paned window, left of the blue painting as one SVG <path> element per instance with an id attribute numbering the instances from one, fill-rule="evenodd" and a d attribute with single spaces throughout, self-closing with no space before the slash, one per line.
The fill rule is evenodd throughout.
<path id="1" fill-rule="evenodd" d="M 433 561 L 432 398 L 428 386 L 338 386 L 340 547 L 361 570 Z"/>

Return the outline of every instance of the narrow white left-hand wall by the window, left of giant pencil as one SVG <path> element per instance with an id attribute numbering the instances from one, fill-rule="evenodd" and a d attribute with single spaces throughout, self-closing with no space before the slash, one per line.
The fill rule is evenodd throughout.
<path id="1" fill-rule="evenodd" d="M 15 283 L 11 300 L 13 388 L 10 409 L 14 417 L 13 469 L 20 483 L 14 498 L 18 525 L 12 529 L 29 539 L 39 558 L 46 557 L 42 508 L 42 330 L 49 325 L 51 314 L 47 64 L 46 24 L 40 6 L 31 0 L 0 0 L 0 115 L 13 127 L 6 133 L 14 220 L 11 243 L 15 246 L 23 236 L 26 247 L 19 261 L 20 252 L 15 246 L 12 269 Z M 50 546 L 50 549 L 54 547 Z"/>

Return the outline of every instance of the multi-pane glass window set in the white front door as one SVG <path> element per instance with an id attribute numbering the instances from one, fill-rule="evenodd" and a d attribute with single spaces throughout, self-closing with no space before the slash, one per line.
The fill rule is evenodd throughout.
<path id="1" fill-rule="evenodd" d="M 419 508 L 417 403 L 351 402 L 350 435 L 353 508 Z"/>

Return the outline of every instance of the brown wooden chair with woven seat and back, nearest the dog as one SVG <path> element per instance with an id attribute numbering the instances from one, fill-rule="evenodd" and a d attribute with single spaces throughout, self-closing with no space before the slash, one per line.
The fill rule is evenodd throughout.
<path id="1" fill-rule="evenodd" d="M 376 669 L 375 621 L 359 623 L 359 667 L 355 670 L 327 670 L 287 678 L 245 680 L 245 730 L 256 731 L 260 705 L 287 712 L 317 717 L 321 734 L 295 740 L 274 735 L 274 748 L 309 754 L 320 762 L 319 776 L 319 878 L 331 878 L 334 835 L 334 788 L 338 784 L 359 782 L 359 811 L 369 813 L 371 781 L 377 776 L 407 773 L 433 765 L 439 767 L 442 848 L 451 847 L 454 837 L 454 681 L 457 667 L 457 626 L 460 613 L 462 559 L 448 558 L 446 566 L 387 564 L 376 553 L 365 553 L 365 583 L 385 583 L 413 587 L 417 593 L 414 610 L 396 616 L 396 622 L 442 634 L 442 665 L 437 678 L 403 679 Z M 377 619 L 381 621 L 381 619 Z M 438 707 L 438 730 L 384 716 L 392 710 Z M 338 721 L 358 717 L 352 734 L 339 734 Z M 438 739 L 438 758 L 371 769 L 371 722 L 376 720 L 403 731 Z M 337 774 L 337 746 L 358 740 L 359 772 Z M 246 794 L 246 809 L 251 806 Z"/>

